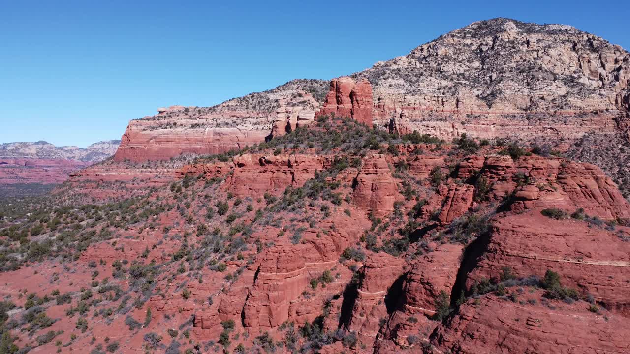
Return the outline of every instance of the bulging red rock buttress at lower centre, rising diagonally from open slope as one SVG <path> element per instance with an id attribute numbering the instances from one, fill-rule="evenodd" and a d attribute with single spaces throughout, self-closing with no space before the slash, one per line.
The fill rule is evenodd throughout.
<path id="1" fill-rule="evenodd" d="M 351 228 L 350 225 L 354 228 Z M 335 226 L 333 230 L 332 227 Z M 302 243 L 292 244 L 286 239 L 276 239 L 274 246 L 263 254 L 260 266 L 246 278 L 246 283 L 232 286 L 230 295 L 219 307 L 222 319 L 240 314 L 246 328 L 273 329 L 287 320 L 303 324 L 321 314 L 321 304 L 339 294 L 345 283 L 326 285 L 318 296 L 306 298 L 305 290 L 312 290 L 309 282 L 336 265 L 341 251 L 356 243 L 368 222 L 357 223 L 350 217 L 335 217 L 334 222 L 322 223 L 318 230 L 329 230 L 328 235 L 307 229 Z M 346 277 L 351 275 L 346 271 Z"/>

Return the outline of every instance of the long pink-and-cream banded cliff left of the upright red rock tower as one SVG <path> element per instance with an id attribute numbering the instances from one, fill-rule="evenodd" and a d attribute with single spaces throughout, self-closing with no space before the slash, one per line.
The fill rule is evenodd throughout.
<path id="1" fill-rule="evenodd" d="M 293 80 L 210 108 L 171 106 L 132 120 L 115 161 L 166 160 L 181 154 L 218 154 L 282 135 L 314 119 L 324 81 Z M 312 94 L 316 94 L 318 99 Z"/>

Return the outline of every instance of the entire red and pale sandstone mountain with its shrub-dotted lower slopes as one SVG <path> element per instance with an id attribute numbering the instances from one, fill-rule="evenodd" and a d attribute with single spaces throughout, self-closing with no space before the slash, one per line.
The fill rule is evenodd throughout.
<path id="1" fill-rule="evenodd" d="M 2 345 L 628 353 L 619 170 L 559 151 L 627 139 L 628 58 L 495 19 L 329 85 L 134 120 L 0 224 Z"/>

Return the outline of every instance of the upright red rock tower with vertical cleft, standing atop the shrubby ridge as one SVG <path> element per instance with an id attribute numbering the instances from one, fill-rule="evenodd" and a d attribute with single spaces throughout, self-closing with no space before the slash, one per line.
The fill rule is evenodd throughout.
<path id="1" fill-rule="evenodd" d="M 372 85 L 367 80 L 356 83 L 351 77 L 338 77 L 330 81 L 330 90 L 321 111 L 317 114 L 335 113 L 372 127 Z"/>

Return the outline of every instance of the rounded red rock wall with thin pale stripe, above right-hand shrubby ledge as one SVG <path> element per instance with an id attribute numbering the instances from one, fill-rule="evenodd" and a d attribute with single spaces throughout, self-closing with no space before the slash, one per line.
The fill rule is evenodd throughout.
<path id="1" fill-rule="evenodd" d="M 467 286 L 481 278 L 500 278 L 504 266 L 515 275 L 543 277 L 559 273 L 563 285 L 592 294 L 612 311 L 630 316 L 630 243 L 626 227 L 608 231 L 580 220 L 554 220 L 539 210 L 500 217 L 493 223 L 486 252 L 467 278 Z M 627 237 L 627 236 L 626 236 Z"/>

